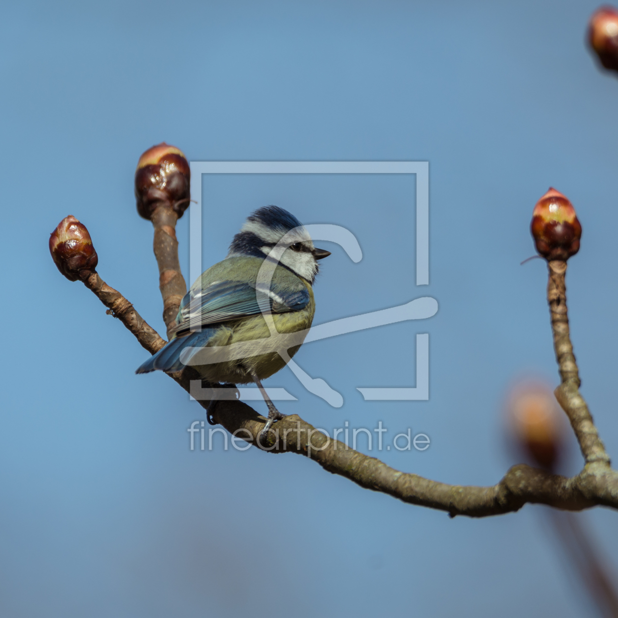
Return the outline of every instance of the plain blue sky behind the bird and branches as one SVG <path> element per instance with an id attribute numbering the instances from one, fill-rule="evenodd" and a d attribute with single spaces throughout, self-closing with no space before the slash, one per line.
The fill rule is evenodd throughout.
<path id="1" fill-rule="evenodd" d="M 133 200 L 143 150 L 190 160 L 430 162 L 430 286 L 414 281 L 411 177 L 210 177 L 203 260 L 275 203 L 357 235 L 316 282 L 316 323 L 431 295 L 439 312 L 303 347 L 344 396 L 332 408 L 284 369 L 282 402 L 324 428 L 412 428 L 406 472 L 493 484 L 520 375 L 557 384 L 531 210 L 552 185 L 577 208 L 572 337 L 601 435 L 618 452 L 618 82 L 586 49 L 596 2 L 79 2 L 3 7 L 0 23 L 3 616 L 589 616 L 542 507 L 457 518 L 372 493 L 294 455 L 190 452 L 203 420 L 48 236 L 74 214 L 99 273 L 164 332 L 150 223 Z M 188 220 L 179 222 L 188 273 Z M 326 245 L 325 245 L 326 246 Z M 328 247 L 331 248 L 331 247 Z M 430 400 L 364 402 L 413 386 L 430 333 Z M 259 410 L 263 405 L 256 405 Z M 221 436 L 217 436 L 221 438 Z M 387 438 L 386 438 L 387 439 Z M 580 466 L 574 444 L 564 472 Z M 365 446 L 363 446 L 365 448 Z M 365 449 L 366 450 L 366 449 Z M 374 452 L 374 454 L 377 454 Z M 616 514 L 582 515 L 616 556 Z"/>

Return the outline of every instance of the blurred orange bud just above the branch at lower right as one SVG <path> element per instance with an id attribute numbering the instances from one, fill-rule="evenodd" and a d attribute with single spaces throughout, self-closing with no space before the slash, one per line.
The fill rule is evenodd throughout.
<path id="1" fill-rule="evenodd" d="M 540 382 L 523 382 L 512 389 L 509 424 L 519 445 L 536 464 L 554 468 L 564 439 L 564 418 L 551 389 Z"/>

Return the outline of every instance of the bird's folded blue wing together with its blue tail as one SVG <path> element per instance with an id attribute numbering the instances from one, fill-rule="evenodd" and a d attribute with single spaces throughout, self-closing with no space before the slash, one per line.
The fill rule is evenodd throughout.
<path id="1" fill-rule="evenodd" d="M 302 290 L 290 291 L 271 285 L 271 289 L 260 291 L 239 281 L 218 281 L 198 294 L 193 289 L 189 290 L 180 303 L 176 318 L 174 331 L 178 336 L 174 336 L 169 344 L 148 358 L 135 373 L 150 373 L 157 369 L 169 372 L 182 370 L 185 365 L 180 362 L 180 353 L 185 347 L 207 345 L 222 322 L 261 313 L 258 298 L 268 299 L 273 313 L 300 311 L 310 302 L 309 292 L 304 286 Z M 192 318 L 195 318 L 195 324 L 200 324 L 201 331 L 188 332 Z M 188 334 L 184 334 L 186 332 Z"/>

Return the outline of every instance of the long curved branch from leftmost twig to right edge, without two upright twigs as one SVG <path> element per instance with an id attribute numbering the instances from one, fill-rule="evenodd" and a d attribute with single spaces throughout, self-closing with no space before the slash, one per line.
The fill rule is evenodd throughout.
<path id="1" fill-rule="evenodd" d="M 143 321 L 129 301 L 104 284 L 98 274 L 85 283 L 149 352 L 154 353 L 163 347 L 166 342 Z M 134 324 L 139 324 L 140 328 L 133 328 Z M 197 376 L 192 373 L 192 368 L 187 369 L 190 371 L 185 370 L 171 377 L 190 392 L 191 381 Z M 210 401 L 200 401 L 200 405 L 208 409 Z M 618 509 L 618 473 L 609 468 L 603 475 L 584 470 L 574 478 L 565 478 L 520 464 L 510 468 L 494 486 L 447 485 L 400 472 L 375 457 L 350 449 L 344 442 L 325 436 L 298 415 L 277 421 L 268 439 L 261 443 L 259 440 L 266 418 L 243 402 L 219 401 L 213 410 L 213 418 L 237 438 L 263 451 L 305 455 L 324 470 L 344 476 L 363 488 L 389 494 L 408 504 L 444 510 L 451 517 L 500 515 L 519 510 L 527 502 L 564 510 L 582 510 L 596 504 Z"/>

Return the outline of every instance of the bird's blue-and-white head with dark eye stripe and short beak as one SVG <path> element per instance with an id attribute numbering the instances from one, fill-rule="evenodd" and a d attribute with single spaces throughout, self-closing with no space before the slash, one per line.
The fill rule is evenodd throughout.
<path id="1" fill-rule="evenodd" d="M 288 232 L 292 234 L 288 235 Z M 287 210 L 279 206 L 265 206 L 247 217 L 247 221 L 234 236 L 227 257 L 250 255 L 263 258 L 286 236 L 287 248 L 279 263 L 313 284 L 318 274 L 318 260 L 331 253 L 313 246 L 310 235 Z"/>

